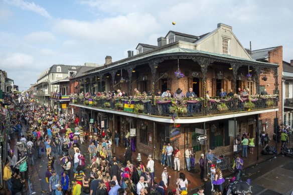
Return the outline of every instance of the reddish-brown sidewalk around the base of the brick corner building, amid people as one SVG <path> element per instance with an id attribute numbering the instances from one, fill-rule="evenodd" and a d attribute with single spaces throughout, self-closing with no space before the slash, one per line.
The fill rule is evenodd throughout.
<path id="1" fill-rule="evenodd" d="M 271 141 L 270 143 L 271 146 L 275 146 L 275 142 Z M 288 144 L 289 146 L 293 146 L 292 143 Z M 246 168 L 249 168 L 255 164 L 261 163 L 265 160 L 271 159 L 273 158 L 275 155 L 262 155 L 261 154 L 261 150 L 262 147 L 259 146 L 259 153 L 258 153 L 258 157 L 259 159 L 257 160 L 257 151 L 256 151 L 256 147 L 254 148 L 253 154 L 249 153 L 248 151 L 248 158 L 244 158 L 244 165 Z M 277 145 L 277 150 L 278 153 L 280 152 L 280 143 L 278 143 Z M 124 162 L 124 152 L 125 152 L 125 147 L 122 144 L 119 144 L 118 147 L 115 146 L 115 154 L 113 154 L 114 156 L 116 156 L 120 161 Z M 138 161 L 136 160 L 137 154 L 139 152 L 135 151 L 132 152 L 132 164 L 135 166 Z M 143 154 L 140 153 L 141 155 L 141 160 L 143 162 L 143 164 L 147 164 L 148 163 L 148 156 L 147 154 Z M 217 155 L 217 154 L 216 154 Z M 230 161 L 233 158 L 233 155 L 228 155 L 228 157 L 230 157 Z M 159 183 L 162 180 L 162 171 L 163 171 L 163 165 L 161 165 L 161 162 L 159 160 L 155 160 L 155 182 Z M 198 161 L 196 162 L 196 167 L 195 169 L 192 169 L 191 171 L 187 171 L 187 169 L 183 169 L 179 171 L 174 171 L 174 169 L 171 169 L 168 167 L 168 172 L 169 175 L 171 175 L 171 179 L 170 179 L 170 185 L 168 186 L 169 190 L 175 189 L 176 188 L 176 179 L 179 178 L 179 173 L 183 172 L 186 175 L 186 178 L 188 179 L 188 191 L 191 192 L 192 190 L 197 189 L 198 187 L 202 186 L 204 183 L 203 181 L 200 179 L 200 167 L 199 167 L 199 163 Z M 233 173 L 231 173 L 228 170 L 223 170 L 223 176 L 224 177 L 228 177 L 231 176 Z M 207 175 L 205 175 L 207 177 Z"/>

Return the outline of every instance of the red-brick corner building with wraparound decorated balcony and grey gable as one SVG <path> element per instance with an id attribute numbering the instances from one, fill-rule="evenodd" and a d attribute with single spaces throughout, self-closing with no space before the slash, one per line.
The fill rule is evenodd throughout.
<path id="1" fill-rule="evenodd" d="M 218 24 L 214 31 L 201 36 L 170 31 L 158 38 L 158 46 L 140 43 L 136 49 L 137 55 L 129 51 L 128 58 L 117 62 L 107 56 L 103 67 L 72 81 L 84 86 L 85 93 L 120 89 L 130 97 L 136 88 L 149 97 L 90 97 L 95 102 L 92 105 L 77 98 L 70 105 L 84 109 L 82 116 L 120 134 L 135 129 L 132 141 L 136 149 L 156 159 L 161 158 L 164 141 L 180 147 L 182 154 L 187 147 L 193 147 L 198 161 L 208 148 L 218 155 L 233 152 L 237 134 L 248 132 L 257 139 L 259 129 L 267 126 L 264 130 L 272 135 L 275 113 L 281 116 L 281 97 L 275 95 L 281 94 L 281 47 L 269 52 L 268 61 L 254 60 L 232 27 Z M 179 70 L 183 76 L 180 79 L 175 76 Z M 264 75 L 266 81 L 262 80 Z M 263 86 L 269 95 L 258 95 Z M 184 95 L 193 88 L 197 97 L 156 98 L 159 90 L 165 92 L 168 88 L 172 94 L 180 88 Z M 249 89 L 250 99 L 234 95 L 220 98 L 221 88 L 233 94 L 238 93 L 238 88 Z M 121 110 L 117 103 L 130 108 L 134 104 L 134 113 Z M 198 141 L 201 135 L 207 135 L 207 140 Z M 183 155 L 180 160 L 185 167 Z"/>

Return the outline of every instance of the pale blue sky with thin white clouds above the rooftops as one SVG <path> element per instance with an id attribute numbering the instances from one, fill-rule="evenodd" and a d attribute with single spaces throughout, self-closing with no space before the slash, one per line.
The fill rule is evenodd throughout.
<path id="1" fill-rule="evenodd" d="M 218 23 L 232 26 L 245 48 L 283 46 L 289 62 L 292 7 L 291 0 L 0 0 L 0 69 L 22 91 L 53 64 L 117 61 L 169 30 L 199 36 Z"/>

